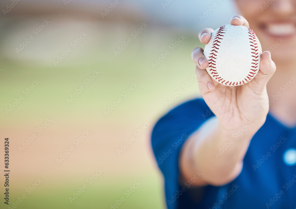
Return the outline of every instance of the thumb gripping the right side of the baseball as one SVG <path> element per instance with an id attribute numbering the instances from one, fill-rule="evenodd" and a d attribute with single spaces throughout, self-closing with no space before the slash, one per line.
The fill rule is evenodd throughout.
<path id="1" fill-rule="evenodd" d="M 267 82 L 275 71 L 276 65 L 274 64 L 274 61 L 271 60 L 270 52 L 262 52 L 258 74 L 249 82 L 252 89 L 256 92 L 264 91 L 266 89 Z"/>

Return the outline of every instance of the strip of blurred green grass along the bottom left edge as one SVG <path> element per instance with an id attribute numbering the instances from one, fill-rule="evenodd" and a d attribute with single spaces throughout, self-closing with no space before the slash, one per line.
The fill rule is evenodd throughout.
<path id="1" fill-rule="evenodd" d="M 156 184 L 158 181 L 156 178 L 143 178 L 139 177 L 143 181 L 139 181 L 141 185 L 130 192 L 129 196 L 124 194 L 128 189 L 133 186 L 134 181 L 129 181 L 124 178 L 124 181 L 119 179 L 109 182 L 94 181 L 93 184 L 88 185 L 83 191 L 81 188 L 83 184 L 78 184 L 76 181 L 59 184 L 46 184 L 41 183 L 37 186 L 32 193 L 25 192 L 27 188 L 20 191 L 11 191 L 13 195 L 10 197 L 10 207 L 13 207 L 13 202 L 21 200 L 22 194 L 26 194 L 27 197 L 19 204 L 17 202 L 17 208 L 111 208 L 110 205 L 114 205 L 116 200 L 120 200 L 121 197 L 125 198 L 125 201 L 120 204 L 119 208 L 163 208 L 162 192 L 160 187 Z M 43 185 L 42 185 L 43 184 Z M 83 191 L 79 196 L 72 200 L 69 197 L 73 197 L 73 192 L 77 192 L 78 188 Z M 14 188 L 12 188 L 14 189 Z M 29 190 L 27 190 L 29 191 Z M 79 193 L 78 193 L 79 194 Z M 7 208 L 7 207 L 6 207 Z"/>

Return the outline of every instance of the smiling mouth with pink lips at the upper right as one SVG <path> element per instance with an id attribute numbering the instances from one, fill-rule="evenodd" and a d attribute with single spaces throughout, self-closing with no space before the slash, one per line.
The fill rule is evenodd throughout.
<path id="1" fill-rule="evenodd" d="M 260 28 L 269 36 L 290 37 L 296 35 L 295 23 L 264 23 Z"/>

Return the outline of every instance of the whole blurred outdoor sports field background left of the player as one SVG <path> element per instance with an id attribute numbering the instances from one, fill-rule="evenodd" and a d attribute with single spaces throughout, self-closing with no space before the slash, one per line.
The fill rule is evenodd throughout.
<path id="1" fill-rule="evenodd" d="M 0 9 L 0 208 L 165 208 L 151 131 L 199 96 L 191 51 L 200 29 L 229 23 L 232 2 L 1 0 Z"/>

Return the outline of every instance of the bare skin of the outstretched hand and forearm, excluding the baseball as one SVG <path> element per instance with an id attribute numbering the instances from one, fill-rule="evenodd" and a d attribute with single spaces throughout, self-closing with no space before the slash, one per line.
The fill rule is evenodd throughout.
<path id="1" fill-rule="evenodd" d="M 247 20 L 234 16 L 232 25 L 249 27 Z M 204 28 L 199 33 L 200 42 L 207 44 L 213 29 Z M 192 178 L 195 172 L 202 173 L 194 185 L 223 185 L 236 178 L 242 170 L 242 160 L 252 136 L 264 124 L 268 114 L 268 95 L 266 84 L 276 71 L 271 53 L 261 55 L 260 70 L 247 84 L 229 87 L 216 82 L 205 70 L 209 63 L 198 47 L 192 51 L 192 60 L 196 64 L 195 72 L 200 93 L 215 114 L 216 119 L 205 122 L 185 142 L 179 160 L 182 178 Z M 217 105 L 218 104 L 218 105 Z M 229 140 L 233 134 L 246 127 L 247 130 L 219 157 L 215 152 Z"/>

